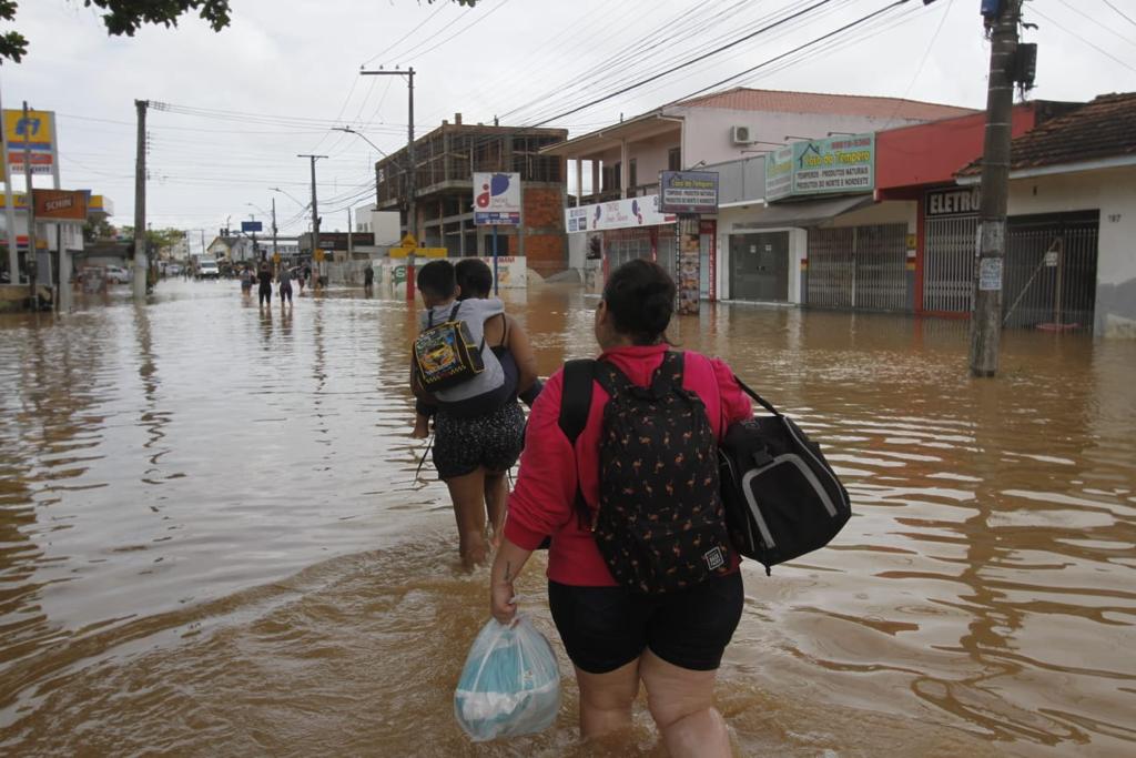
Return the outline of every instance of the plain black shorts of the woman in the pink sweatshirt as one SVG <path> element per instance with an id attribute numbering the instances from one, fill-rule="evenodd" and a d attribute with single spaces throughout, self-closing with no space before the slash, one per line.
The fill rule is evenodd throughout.
<path id="1" fill-rule="evenodd" d="M 605 674 L 643 655 L 710 672 L 742 618 L 741 572 L 665 595 L 621 586 L 571 586 L 549 582 L 549 606 L 568 657 L 590 674 Z"/>

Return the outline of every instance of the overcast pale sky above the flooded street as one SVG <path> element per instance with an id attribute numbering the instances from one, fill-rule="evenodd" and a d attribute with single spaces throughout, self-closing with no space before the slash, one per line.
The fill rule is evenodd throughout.
<path id="1" fill-rule="evenodd" d="M 378 153 L 406 144 L 407 88 L 360 66 L 414 66 L 415 120 L 425 134 L 466 123 L 532 125 L 704 56 L 819 0 L 481 0 L 474 9 L 416 0 L 232 0 L 220 33 L 184 17 L 109 38 L 81 0 L 22 0 L 22 64 L 0 67 L 5 108 L 26 100 L 58 116 L 62 186 L 134 213 L 134 100 L 149 114 L 148 210 L 154 227 L 204 230 L 266 218 L 308 226 L 317 164 L 325 231 L 374 195 Z M 603 103 L 557 118 L 574 134 L 630 117 L 820 38 L 893 0 L 829 0 L 800 19 Z M 911 0 L 874 22 L 730 82 L 766 89 L 908 97 L 983 108 L 988 45 L 979 0 Z M 1033 97 L 1087 100 L 1136 91 L 1136 0 L 1030 0 L 1039 45 Z M 5 27 L 0 27 L 5 28 Z M 36 183 L 48 180 L 37 178 Z M 273 192 L 278 186 L 283 192 Z M 17 183 L 17 189 L 22 189 Z M 252 205 L 249 205 L 252 203 Z M 254 206 L 254 207 L 253 207 Z M 266 223 L 267 227 L 267 223 Z M 198 239 L 198 234 L 193 235 Z"/>

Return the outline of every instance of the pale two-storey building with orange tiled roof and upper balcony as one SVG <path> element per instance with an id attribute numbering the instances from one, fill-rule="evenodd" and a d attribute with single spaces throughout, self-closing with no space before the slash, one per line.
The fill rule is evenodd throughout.
<path id="1" fill-rule="evenodd" d="M 568 232 L 569 236 L 592 238 L 585 242 L 570 241 L 575 258 L 580 251 L 599 247 L 608 268 L 630 258 L 649 257 L 674 270 L 675 233 L 667 231 L 674 218 L 649 225 L 640 220 L 640 214 L 628 213 L 629 209 L 611 208 L 609 214 L 603 203 L 643 198 L 641 206 L 654 207 L 659 174 L 663 170 L 713 170 L 717 164 L 765 155 L 794 141 L 871 133 L 887 126 L 969 113 L 972 111 L 896 98 L 737 88 L 663 106 L 544 148 L 541 153 L 561 156 L 574 164 L 568 174 L 575 178 L 576 207 L 566 219 Z M 575 225 L 573 213 L 577 214 Z M 592 228 L 582 220 L 609 215 L 624 220 L 616 220 L 615 226 L 604 230 Z M 785 225 L 786 230 L 791 226 Z M 729 242 L 720 239 L 719 219 L 713 216 L 703 216 L 698 232 L 701 294 L 717 299 L 729 289 L 732 273 L 719 265 L 726 258 Z M 782 258 L 787 260 L 787 256 L 777 259 Z M 795 294 L 794 298 L 793 292 L 785 293 L 790 301 L 799 302 L 800 293 Z"/>

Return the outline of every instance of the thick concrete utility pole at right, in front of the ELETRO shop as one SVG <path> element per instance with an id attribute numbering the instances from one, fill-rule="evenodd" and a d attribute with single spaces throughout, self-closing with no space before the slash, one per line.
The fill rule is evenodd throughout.
<path id="1" fill-rule="evenodd" d="M 1014 53 L 1022 0 L 1002 0 L 991 17 L 991 69 L 986 93 L 986 144 L 983 150 L 978 249 L 975 251 L 975 306 L 970 318 L 970 374 L 994 376 L 1002 336 L 1002 263 L 1010 194 L 1010 140 L 1013 110 Z"/>

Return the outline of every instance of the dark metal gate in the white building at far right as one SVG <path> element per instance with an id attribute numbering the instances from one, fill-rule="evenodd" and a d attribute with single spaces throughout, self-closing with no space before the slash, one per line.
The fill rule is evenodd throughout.
<path id="1" fill-rule="evenodd" d="M 1011 218 L 1002 316 L 1005 326 L 1092 330 L 1100 215 Z"/>

